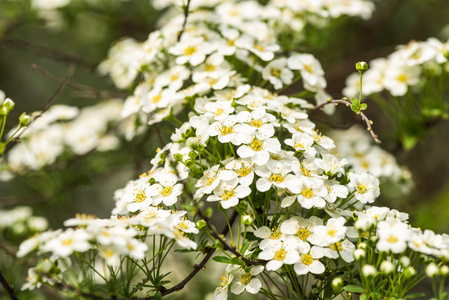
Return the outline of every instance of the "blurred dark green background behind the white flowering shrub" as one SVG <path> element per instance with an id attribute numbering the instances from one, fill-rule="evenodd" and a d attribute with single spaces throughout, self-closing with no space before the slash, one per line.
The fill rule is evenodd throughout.
<path id="1" fill-rule="evenodd" d="M 16 102 L 7 128 L 16 124 L 23 111 L 39 110 L 58 88 L 57 82 L 32 68 L 32 64 L 59 78 L 65 76 L 71 65 L 77 65 L 73 81 L 102 91 L 122 92 L 108 78 L 99 76 L 96 66 L 115 41 L 123 37 L 146 39 L 157 28 L 161 14 L 152 8 L 149 0 L 91 2 L 75 1 L 74 5 L 62 9 L 60 28 L 49 28 L 31 9 L 29 1 L 0 0 L 0 90 Z M 316 38 L 298 45 L 321 61 L 328 81 L 327 91 L 335 98 L 342 96 L 345 79 L 354 72 L 355 62 L 386 56 L 397 45 L 411 40 L 449 38 L 447 0 L 375 3 L 376 10 L 370 20 L 341 17 L 332 21 L 328 30 L 310 29 Z M 101 100 L 85 98 L 66 87 L 55 103 L 82 107 Z M 449 96 L 445 100 L 449 102 Z M 373 128 L 382 140 L 381 146 L 411 170 L 415 182 L 410 195 L 398 196 L 393 191 L 389 196 L 381 195 L 378 205 L 409 213 L 413 226 L 449 232 L 448 121 L 429 126 L 417 145 L 405 150 L 382 110 L 369 99 L 368 104 L 366 114 L 374 121 Z M 311 117 L 323 126 L 338 128 L 358 122 L 344 108 L 337 109 L 330 118 L 321 114 Z M 108 217 L 113 207 L 113 192 L 148 169 L 156 146 L 162 145 L 145 137 L 124 143 L 119 151 L 76 158 L 64 165 L 63 170 L 52 166 L 0 182 L 0 209 L 31 205 L 36 215 L 48 218 L 52 228 L 61 227 L 64 220 L 78 212 Z M 2 271 L 13 263 L 5 254 L 7 251 L 3 252 L 0 253 Z M 9 269 L 5 275 L 18 284 L 23 280 L 16 270 Z M 0 297 L 2 293 L 0 289 Z"/>

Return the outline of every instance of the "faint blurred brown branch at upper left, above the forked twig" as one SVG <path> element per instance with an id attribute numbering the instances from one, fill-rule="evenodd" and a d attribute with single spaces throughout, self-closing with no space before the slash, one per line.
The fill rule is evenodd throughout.
<path id="1" fill-rule="evenodd" d="M 27 41 L 24 41 L 22 39 L 1 39 L 0 40 L 0 47 L 5 48 L 17 48 L 20 50 L 23 50 L 25 52 L 32 53 L 37 56 L 45 57 L 48 59 L 52 59 L 59 62 L 65 62 L 69 64 L 75 64 L 77 66 L 80 66 L 89 72 L 93 73 L 95 72 L 97 66 L 93 63 L 86 62 L 82 60 L 81 58 L 69 54 L 62 53 L 58 50 L 46 48 L 38 45 L 33 45 Z"/>

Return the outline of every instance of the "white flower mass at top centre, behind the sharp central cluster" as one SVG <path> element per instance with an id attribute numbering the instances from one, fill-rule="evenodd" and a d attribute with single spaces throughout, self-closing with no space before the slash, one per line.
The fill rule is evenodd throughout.
<path id="1" fill-rule="evenodd" d="M 278 33 L 273 30 L 277 25 L 270 20 L 285 20 L 282 12 L 290 11 L 290 6 L 295 6 L 293 2 L 283 5 L 278 1 L 264 6 L 255 1 L 198 1 L 192 3 L 180 41 L 177 37 L 184 22 L 182 14 L 165 18 L 164 26 L 144 42 L 131 38 L 119 41 L 99 66 L 100 72 L 109 74 L 119 88 L 131 86 L 139 73 L 144 78 L 126 100 L 122 117 L 135 115 L 142 124 L 157 123 L 179 112 L 186 104 L 186 97 L 236 88 L 254 76 L 261 76 L 274 89 L 291 84 L 296 77 L 302 78 L 304 87 L 316 94 L 316 100 L 325 101 L 327 84 L 315 57 L 292 53 L 288 58 L 275 59 L 280 47 Z M 332 16 L 372 11 L 372 3 L 368 1 L 349 1 L 345 5 L 325 2 L 314 6 L 317 13 L 323 15 L 321 9 L 325 8 L 339 11 L 331 13 Z M 158 1 L 155 5 L 164 7 L 170 3 Z M 313 10 L 311 3 L 295 8 L 298 12 L 308 10 Z M 244 72 L 245 68 L 255 72 Z M 226 99 L 230 95 L 222 93 L 217 97 Z"/>

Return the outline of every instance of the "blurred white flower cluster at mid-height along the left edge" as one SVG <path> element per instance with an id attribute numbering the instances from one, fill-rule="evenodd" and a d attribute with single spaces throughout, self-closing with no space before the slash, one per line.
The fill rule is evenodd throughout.
<path id="1" fill-rule="evenodd" d="M 82 109 L 51 106 L 26 128 L 21 142 L 8 152 L 8 170 L 39 169 L 54 163 L 64 151 L 83 155 L 94 149 L 116 149 L 119 139 L 116 133 L 108 132 L 108 124 L 120 118 L 120 109 L 121 104 L 116 100 Z"/>

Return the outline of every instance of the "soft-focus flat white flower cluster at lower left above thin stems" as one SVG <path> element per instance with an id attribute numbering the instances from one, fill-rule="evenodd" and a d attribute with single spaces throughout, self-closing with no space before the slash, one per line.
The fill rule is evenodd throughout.
<path id="1" fill-rule="evenodd" d="M 78 215 L 64 223 L 66 226 L 76 226 L 75 229 L 59 229 L 36 235 L 20 245 L 17 256 L 37 251 L 39 254 L 50 253 L 51 260 L 55 261 L 68 258 L 74 252 L 95 249 L 109 266 L 115 267 L 124 255 L 143 259 L 148 250 L 145 237 L 152 235 L 163 235 L 174 239 L 183 248 L 196 249 L 196 243 L 187 234 L 198 233 L 198 229 L 183 217 L 185 214 L 185 211 L 172 212 L 147 206 L 128 218 L 112 216 L 110 219 L 97 219 Z"/>

